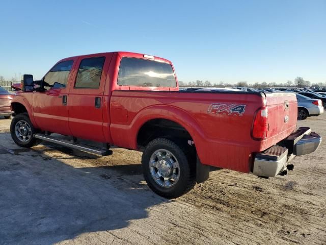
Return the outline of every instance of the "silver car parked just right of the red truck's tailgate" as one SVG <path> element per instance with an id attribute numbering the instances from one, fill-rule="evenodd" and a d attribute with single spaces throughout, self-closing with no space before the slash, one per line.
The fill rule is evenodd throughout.
<path id="1" fill-rule="evenodd" d="M 297 119 L 304 120 L 308 116 L 318 116 L 324 112 L 321 100 L 310 99 L 302 94 L 295 93 L 297 100 Z"/>

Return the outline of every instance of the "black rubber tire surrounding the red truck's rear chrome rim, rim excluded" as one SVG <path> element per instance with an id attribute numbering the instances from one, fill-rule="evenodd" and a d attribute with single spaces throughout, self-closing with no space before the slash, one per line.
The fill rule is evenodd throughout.
<path id="1" fill-rule="evenodd" d="M 152 176 L 153 167 L 150 165 L 151 157 L 158 150 L 172 153 L 174 160 L 178 162 L 178 179 L 170 187 L 163 187 Z M 196 165 L 192 159 L 187 159 L 186 150 L 180 148 L 175 142 L 167 138 L 157 138 L 150 141 L 143 152 L 142 166 L 144 178 L 148 186 L 158 195 L 164 198 L 178 198 L 191 190 L 196 184 Z M 189 154 L 192 155 L 192 154 Z M 190 158 L 190 157 L 189 157 Z M 157 160 L 157 164 L 159 160 Z M 155 168 L 154 168 L 155 169 Z M 158 168 L 157 173 L 158 173 Z M 170 169 L 170 168 L 169 168 Z M 161 177 L 163 178 L 163 177 Z M 173 178 L 172 178 L 173 179 Z M 159 180 L 162 181 L 162 180 Z M 164 182 L 164 181 L 162 181 Z M 168 181 L 171 183 L 170 181 Z"/>

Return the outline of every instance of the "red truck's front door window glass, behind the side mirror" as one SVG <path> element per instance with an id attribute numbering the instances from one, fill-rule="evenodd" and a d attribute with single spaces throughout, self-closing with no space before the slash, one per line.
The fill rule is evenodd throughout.
<path id="1" fill-rule="evenodd" d="M 73 60 L 60 62 L 44 77 L 44 87 L 66 87 Z"/>

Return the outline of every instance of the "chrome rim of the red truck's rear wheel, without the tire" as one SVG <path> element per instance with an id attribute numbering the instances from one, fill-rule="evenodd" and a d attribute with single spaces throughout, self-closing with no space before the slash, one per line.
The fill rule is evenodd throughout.
<path id="1" fill-rule="evenodd" d="M 165 149 L 159 149 L 152 154 L 149 169 L 155 182 L 165 188 L 174 186 L 180 177 L 177 158 Z"/>

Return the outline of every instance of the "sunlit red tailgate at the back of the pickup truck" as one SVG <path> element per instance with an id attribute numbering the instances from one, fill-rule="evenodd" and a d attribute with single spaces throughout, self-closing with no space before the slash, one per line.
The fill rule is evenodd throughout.
<path id="1" fill-rule="evenodd" d="M 294 93 L 266 93 L 268 124 L 266 144 L 268 148 L 289 136 L 296 127 L 297 102 Z"/>

